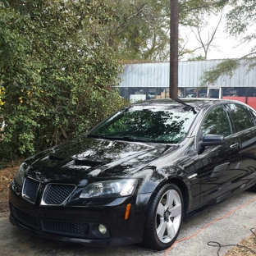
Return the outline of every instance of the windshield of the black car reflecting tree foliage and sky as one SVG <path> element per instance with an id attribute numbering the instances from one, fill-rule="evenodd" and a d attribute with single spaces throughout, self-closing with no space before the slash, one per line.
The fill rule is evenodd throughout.
<path id="1" fill-rule="evenodd" d="M 194 113 L 178 106 L 126 107 L 104 121 L 89 136 L 161 143 L 184 139 L 194 120 Z"/>

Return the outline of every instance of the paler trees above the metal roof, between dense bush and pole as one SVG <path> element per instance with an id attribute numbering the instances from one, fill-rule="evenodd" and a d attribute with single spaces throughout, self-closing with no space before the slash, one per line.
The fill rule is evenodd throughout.
<path id="1" fill-rule="evenodd" d="M 169 0 L 107 1 L 112 9 L 108 28 L 98 30 L 122 60 L 166 60 Z"/>

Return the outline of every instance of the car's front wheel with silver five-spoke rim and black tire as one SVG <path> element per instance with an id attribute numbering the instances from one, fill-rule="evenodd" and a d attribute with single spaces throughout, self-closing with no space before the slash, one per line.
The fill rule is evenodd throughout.
<path id="1" fill-rule="evenodd" d="M 184 203 L 175 184 L 163 185 L 149 203 L 143 245 L 152 249 L 169 248 L 181 230 Z"/>

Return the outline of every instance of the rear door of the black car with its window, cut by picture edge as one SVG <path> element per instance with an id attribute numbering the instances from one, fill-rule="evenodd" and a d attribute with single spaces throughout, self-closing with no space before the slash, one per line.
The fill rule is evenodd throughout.
<path id="1" fill-rule="evenodd" d="M 240 189 L 255 183 L 256 112 L 240 103 L 227 104 L 241 143 Z"/>

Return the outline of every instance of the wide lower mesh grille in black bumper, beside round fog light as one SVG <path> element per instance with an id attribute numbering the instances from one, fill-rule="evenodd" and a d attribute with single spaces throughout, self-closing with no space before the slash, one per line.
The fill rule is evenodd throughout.
<path id="1" fill-rule="evenodd" d="M 57 222 L 51 220 L 43 220 L 43 231 L 57 233 L 60 235 L 72 235 L 82 237 L 88 235 L 89 224 L 77 222 Z"/>

